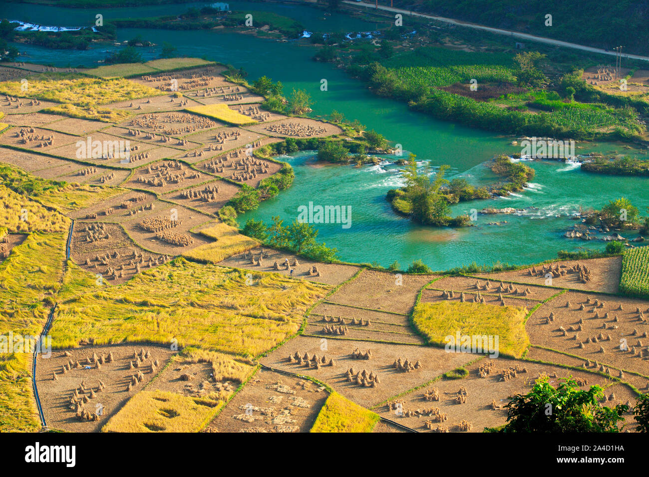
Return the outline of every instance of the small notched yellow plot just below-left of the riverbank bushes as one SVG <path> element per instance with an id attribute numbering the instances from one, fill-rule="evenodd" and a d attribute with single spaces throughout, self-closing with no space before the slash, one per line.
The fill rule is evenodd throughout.
<path id="1" fill-rule="evenodd" d="M 225 223 L 217 223 L 209 228 L 204 228 L 200 233 L 215 241 L 185 252 L 183 256 L 202 262 L 219 263 L 232 255 L 259 245 L 259 241 L 256 239 L 239 234 L 236 228 Z"/>

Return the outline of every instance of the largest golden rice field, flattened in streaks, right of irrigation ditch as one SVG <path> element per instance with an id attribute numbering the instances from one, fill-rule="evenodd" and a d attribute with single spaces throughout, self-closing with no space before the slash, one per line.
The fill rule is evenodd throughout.
<path id="1" fill-rule="evenodd" d="M 177 341 L 180 347 L 250 357 L 297 332 L 306 310 L 328 290 L 183 258 L 105 287 L 70 265 L 51 334 L 56 347 L 80 341 Z"/>

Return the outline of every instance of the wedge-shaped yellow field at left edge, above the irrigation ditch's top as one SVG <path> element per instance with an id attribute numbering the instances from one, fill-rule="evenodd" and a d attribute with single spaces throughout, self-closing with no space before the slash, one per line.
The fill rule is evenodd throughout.
<path id="1" fill-rule="evenodd" d="M 69 228 L 70 221 L 65 215 L 51 212 L 42 204 L 2 185 L 0 204 L 0 226 L 10 232 L 64 232 Z"/>

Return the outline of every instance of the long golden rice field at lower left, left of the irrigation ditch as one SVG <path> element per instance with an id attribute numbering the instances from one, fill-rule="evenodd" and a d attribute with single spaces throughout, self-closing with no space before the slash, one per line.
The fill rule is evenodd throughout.
<path id="1" fill-rule="evenodd" d="M 60 286 L 67 233 L 34 233 L 0 263 L 0 334 L 38 336 Z M 38 431 L 31 354 L 0 354 L 0 430 Z"/>

